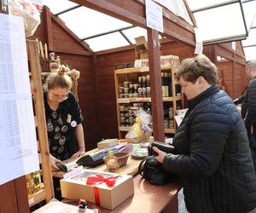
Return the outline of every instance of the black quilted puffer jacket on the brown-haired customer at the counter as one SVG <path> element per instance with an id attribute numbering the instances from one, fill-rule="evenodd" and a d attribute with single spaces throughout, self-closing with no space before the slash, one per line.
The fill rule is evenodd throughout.
<path id="1" fill-rule="evenodd" d="M 164 168 L 180 177 L 190 213 L 245 213 L 256 207 L 247 131 L 230 97 L 213 85 L 189 101 Z"/>

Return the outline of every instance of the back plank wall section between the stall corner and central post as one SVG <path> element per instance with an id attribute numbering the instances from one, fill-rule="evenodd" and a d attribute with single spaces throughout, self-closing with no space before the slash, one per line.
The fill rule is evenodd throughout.
<path id="1" fill-rule="evenodd" d="M 114 85 L 115 65 L 135 60 L 130 47 L 96 56 L 99 124 L 102 138 L 118 138 L 117 108 Z"/>

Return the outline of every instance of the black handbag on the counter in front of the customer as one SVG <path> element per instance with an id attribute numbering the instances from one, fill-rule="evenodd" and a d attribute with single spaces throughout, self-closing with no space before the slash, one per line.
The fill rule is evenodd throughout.
<path id="1" fill-rule="evenodd" d="M 164 170 L 163 165 L 155 159 L 155 156 L 144 158 L 139 164 L 138 173 L 153 185 L 165 185 L 173 177 L 171 173 Z"/>

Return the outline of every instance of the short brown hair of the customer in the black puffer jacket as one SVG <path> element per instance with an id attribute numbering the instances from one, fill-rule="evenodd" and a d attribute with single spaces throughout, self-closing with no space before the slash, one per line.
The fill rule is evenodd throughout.
<path id="1" fill-rule="evenodd" d="M 192 83 L 195 83 L 197 78 L 203 77 L 207 80 L 207 83 L 213 85 L 218 82 L 217 67 L 206 55 L 197 55 L 195 58 L 182 61 L 176 73 L 178 81 L 181 77 Z"/>

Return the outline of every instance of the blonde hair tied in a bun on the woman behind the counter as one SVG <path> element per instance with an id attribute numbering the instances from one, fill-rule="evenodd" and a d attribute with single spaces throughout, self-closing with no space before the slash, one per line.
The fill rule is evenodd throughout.
<path id="1" fill-rule="evenodd" d="M 49 77 L 46 80 L 46 88 L 47 89 L 55 89 L 55 88 L 63 88 L 63 89 L 71 89 L 72 80 L 66 74 L 68 68 L 66 66 L 61 66 L 57 72 L 51 72 Z"/>

